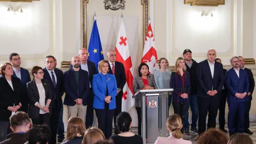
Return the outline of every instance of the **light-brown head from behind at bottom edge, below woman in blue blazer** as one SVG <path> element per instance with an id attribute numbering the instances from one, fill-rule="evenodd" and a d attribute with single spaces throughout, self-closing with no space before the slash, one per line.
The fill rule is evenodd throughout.
<path id="1" fill-rule="evenodd" d="M 82 139 L 82 144 L 94 144 L 97 141 L 104 140 L 105 136 L 103 131 L 99 128 L 89 128 L 84 132 L 84 138 Z"/>

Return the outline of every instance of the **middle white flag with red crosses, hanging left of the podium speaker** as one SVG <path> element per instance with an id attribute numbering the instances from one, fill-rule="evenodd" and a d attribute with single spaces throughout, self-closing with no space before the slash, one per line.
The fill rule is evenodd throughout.
<path id="1" fill-rule="evenodd" d="M 128 47 L 127 36 L 125 33 L 125 25 L 121 18 L 121 25 L 116 40 L 116 61 L 121 62 L 125 66 L 126 84 L 123 87 L 122 111 L 129 111 L 135 105 L 133 96 L 133 65 Z"/>

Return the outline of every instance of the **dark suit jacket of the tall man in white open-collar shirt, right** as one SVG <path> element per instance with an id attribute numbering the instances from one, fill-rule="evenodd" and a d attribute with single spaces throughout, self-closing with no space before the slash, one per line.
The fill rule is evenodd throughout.
<path id="1" fill-rule="evenodd" d="M 219 62 L 214 62 L 214 74 L 211 76 L 208 60 L 198 64 L 198 97 L 212 97 L 206 94 L 208 91 L 216 90 L 219 95 L 224 84 L 223 66 Z"/>

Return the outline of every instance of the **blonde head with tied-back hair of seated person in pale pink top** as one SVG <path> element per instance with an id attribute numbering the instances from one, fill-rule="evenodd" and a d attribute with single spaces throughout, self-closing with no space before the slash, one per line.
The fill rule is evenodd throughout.
<path id="1" fill-rule="evenodd" d="M 181 117 L 178 114 L 171 114 L 167 118 L 167 129 L 172 133 L 172 136 L 174 138 L 183 138 L 183 134 L 181 133 L 181 128 L 182 128 L 182 121 Z"/>

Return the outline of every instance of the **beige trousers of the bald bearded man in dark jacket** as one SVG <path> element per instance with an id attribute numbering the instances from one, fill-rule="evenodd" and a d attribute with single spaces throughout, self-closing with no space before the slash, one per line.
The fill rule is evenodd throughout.
<path id="1" fill-rule="evenodd" d="M 75 104 L 75 106 L 67 106 L 67 113 L 69 118 L 78 116 L 80 117 L 84 122 L 86 121 L 86 109 L 87 106 L 84 106 L 84 104 Z"/>

